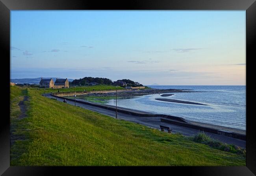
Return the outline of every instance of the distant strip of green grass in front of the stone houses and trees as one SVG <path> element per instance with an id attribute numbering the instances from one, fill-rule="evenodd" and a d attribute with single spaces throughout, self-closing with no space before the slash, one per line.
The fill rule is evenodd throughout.
<path id="1" fill-rule="evenodd" d="M 45 93 L 45 89 L 44 88 L 30 88 L 30 89 L 34 89 L 34 90 L 38 90 L 41 93 Z M 121 90 L 124 89 L 120 86 L 117 86 L 117 90 Z M 74 87 L 69 87 L 69 88 L 62 88 L 62 89 L 52 89 L 52 88 L 46 88 L 46 93 L 56 93 L 56 91 L 60 91 L 60 92 L 74 92 L 75 88 Z M 113 85 L 89 85 L 89 86 L 76 86 L 76 91 L 103 91 L 103 90 L 116 90 L 116 86 Z"/>

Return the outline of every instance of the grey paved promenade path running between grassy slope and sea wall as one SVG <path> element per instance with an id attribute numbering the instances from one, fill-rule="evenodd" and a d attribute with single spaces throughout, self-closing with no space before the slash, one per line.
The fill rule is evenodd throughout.
<path id="1" fill-rule="evenodd" d="M 56 99 L 56 97 L 51 96 L 50 94 L 46 94 L 46 97 Z M 63 102 L 62 98 L 57 98 L 57 100 Z M 67 100 L 67 103 L 74 105 L 73 101 Z M 108 115 L 110 117 L 115 118 L 115 111 L 112 111 L 109 109 L 90 106 L 90 105 L 82 104 L 82 103 L 78 103 L 78 102 L 76 102 L 76 106 L 83 107 L 85 109 L 89 109 L 91 111 L 95 111 L 100 114 Z M 128 120 L 131 122 L 135 122 L 137 124 L 142 124 L 142 125 L 148 126 L 150 128 L 156 128 L 158 130 L 160 130 L 160 125 L 163 125 L 163 126 L 169 126 L 171 129 L 173 129 L 173 131 L 172 131 L 173 133 L 182 133 L 185 136 L 191 136 L 191 135 L 195 135 L 198 133 L 198 130 L 194 130 L 191 128 L 186 128 L 186 127 L 178 126 L 178 125 L 174 125 L 174 124 L 169 124 L 166 122 L 161 122 L 160 118 L 165 119 L 163 117 L 138 117 L 138 116 L 129 115 L 129 114 L 125 114 L 125 113 L 119 113 L 119 112 L 117 113 L 117 119 Z M 246 148 L 246 141 L 232 138 L 232 137 L 226 137 L 226 136 L 222 136 L 222 135 L 208 133 L 208 132 L 205 132 L 205 133 L 210 135 L 211 138 L 217 139 L 223 143 L 234 144 L 239 147 Z"/>

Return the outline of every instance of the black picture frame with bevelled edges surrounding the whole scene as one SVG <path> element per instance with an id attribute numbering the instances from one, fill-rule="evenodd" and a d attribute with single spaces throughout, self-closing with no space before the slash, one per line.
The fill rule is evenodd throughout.
<path id="1" fill-rule="evenodd" d="M 190 175 L 209 176 L 253 176 L 256 175 L 256 133 L 255 115 L 253 113 L 253 59 L 256 58 L 253 44 L 256 43 L 256 2 L 255 0 L 1 0 L 0 2 L 0 44 L 2 50 L 1 76 L 3 90 L 9 90 L 10 72 L 10 11 L 11 10 L 246 10 L 246 166 L 244 167 L 10 167 L 9 141 L 9 95 L 3 95 L 2 106 L 6 115 L 0 118 L 0 174 L 3 175 L 51 175 L 61 173 L 89 174 L 89 171 L 113 171 L 120 174 L 133 172 L 137 169 L 161 174 L 187 173 Z M 3 62 L 2 62 L 3 64 Z M 10 70 L 9 70 L 10 71 Z M 251 79 L 251 81 L 250 81 Z"/>

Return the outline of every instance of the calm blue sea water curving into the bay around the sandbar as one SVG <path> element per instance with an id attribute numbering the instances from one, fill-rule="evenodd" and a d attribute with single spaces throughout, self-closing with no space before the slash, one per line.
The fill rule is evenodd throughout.
<path id="1" fill-rule="evenodd" d="M 117 100 L 117 106 L 184 117 L 196 122 L 205 122 L 232 128 L 246 129 L 246 86 L 149 86 L 156 89 L 193 89 L 202 93 L 173 93 L 162 97 L 161 94 L 140 96 L 132 99 Z M 191 105 L 163 102 L 155 98 L 170 98 L 207 104 Z M 107 104 L 115 105 L 115 100 Z"/>

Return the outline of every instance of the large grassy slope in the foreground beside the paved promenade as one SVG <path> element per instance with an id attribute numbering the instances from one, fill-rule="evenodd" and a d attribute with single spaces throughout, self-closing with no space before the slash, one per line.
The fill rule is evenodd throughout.
<path id="1" fill-rule="evenodd" d="M 28 117 L 15 120 L 17 100 L 26 94 Z M 11 107 L 11 121 L 23 129 L 17 133 L 26 136 L 11 148 L 11 165 L 245 165 L 237 154 L 57 102 L 37 90 L 11 87 Z"/>

